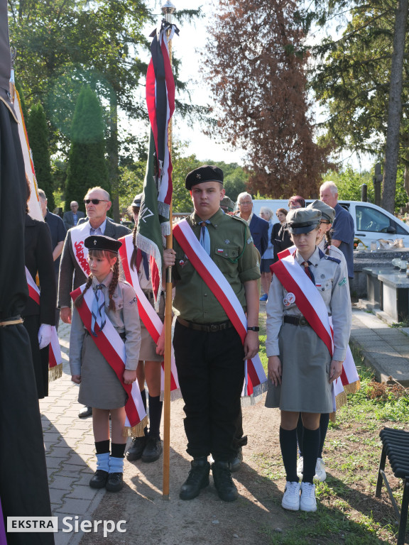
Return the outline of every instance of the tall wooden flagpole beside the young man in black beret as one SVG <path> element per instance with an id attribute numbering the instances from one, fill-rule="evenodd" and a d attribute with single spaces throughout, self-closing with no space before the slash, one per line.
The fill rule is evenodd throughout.
<path id="1" fill-rule="evenodd" d="M 162 13 L 168 23 L 172 23 L 172 15 L 176 8 L 167 1 L 162 6 Z M 172 40 L 168 41 L 170 66 L 172 66 Z M 168 145 L 170 159 L 172 158 L 172 118 L 168 128 Z M 172 234 L 172 202 L 169 209 L 170 235 L 166 237 L 166 248 L 173 248 Z M 165 387 L 163 397 L 163 486 L 162 498 L 169 500 L 170 474 L 170 356 L 172 351 L 172 267 L 166 269 L 165 288 Z"/>

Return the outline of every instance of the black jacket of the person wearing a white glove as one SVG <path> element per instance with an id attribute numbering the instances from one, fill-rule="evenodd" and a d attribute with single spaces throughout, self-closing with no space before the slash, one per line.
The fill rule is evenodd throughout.
<path id="1" fill-rule="evenodd" d="M 51 246 L 50 229 L 45 221 L 38 221 L 26 214 L 26 229 L 24 236 L 24 252 L 26 267 L 33 280 L 40 280 L 40 306 L 33 299 L 28 299 L 22 316 L 40 314 L 40 324 L 55 325 L 56 285 Z"/>

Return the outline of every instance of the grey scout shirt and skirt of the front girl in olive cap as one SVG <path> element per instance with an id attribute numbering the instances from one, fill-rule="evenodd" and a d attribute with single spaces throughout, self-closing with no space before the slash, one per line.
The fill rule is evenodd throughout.
<path id="1" fill-rule="evenodd" d="M 295 253 L 295 259 L 303 258 Z M 343 361 L 347 353 L 351 330 L 351 303 L 344 262 L 336 263 L 320 252 L 310 257 L 315 285 L 332 316 L 334 326 L 334 360 Z M 282 384 L 268 381 L 266 407 L 280 407 L 293 412 L 332 412 L 332 385 L 329 384 L 331 356 L 310 326 L 283 323 L 283 316 L 302 316 L 297 300 L 288 307 L 283 299 L 287 291 L 273 275 L 268 294 L 267 356 L 280 356 L 283 367 Z"/>

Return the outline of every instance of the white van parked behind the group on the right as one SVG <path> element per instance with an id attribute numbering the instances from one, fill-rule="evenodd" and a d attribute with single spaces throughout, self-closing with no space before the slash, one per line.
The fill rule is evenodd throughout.
<path id="1" fill-rule="evenodd" d="M 310 204 L 312 199 L 307 199 L 306 204 Z M 409 247 L 409 226 L 403 221 L 390 214 L 388 211 L 376 204 L 359 201 L 338 201 L 342 207 L 349 211 L 354 219 L 355 238 L 370 246 L 372 241 L 394 240 L 402 238 L 405 248 Z M 259 215 L 261 207 L 268 207 L 274 212 L 274 222 L 276 223 L 276 210 L 285 208 L 288 210 L 288 200 L 280 199 L 254 199 L 253 213 Z"/>

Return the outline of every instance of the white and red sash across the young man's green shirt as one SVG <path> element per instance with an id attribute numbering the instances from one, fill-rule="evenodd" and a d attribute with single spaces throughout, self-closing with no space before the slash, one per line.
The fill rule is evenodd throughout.
<path id="1" fill-rule="evenodd" d="M 192 231 L 192 228 L 185 219 L 180 221 L 173 229 L 173 235 L 180 244 L 180 247 L 189 258 L 190 263 L 212 290 L 214 297 L 222 305 L 229 320 L 234 325 L 237 333 L 244 343 L 247 334 L 247 318 L 238 297 L 231 285 L 226 280 L 216 263 L 205 252 L 204 248 Z M 245 379 L 242 395 L 253 397 L 260 395 L 267 386 L 266 373 L 258 354 L 252 360 L 245 362 Z"/>

